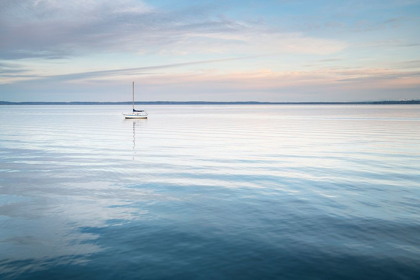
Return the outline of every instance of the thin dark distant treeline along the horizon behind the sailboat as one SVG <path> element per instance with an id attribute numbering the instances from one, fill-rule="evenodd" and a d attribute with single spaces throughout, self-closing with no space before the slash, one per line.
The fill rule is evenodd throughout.
<path id="1" fill-rule="evenodd" d="M 132 102 L 8 102 L 0 105 L 131 105 Z M 148 101 L 135 102 L 137 105 L 386 105 L 386 104 L 420 104 L 420 100 L 400 101 L 363 101 L 363 102 L 208 102 L 208 101 Z"/>

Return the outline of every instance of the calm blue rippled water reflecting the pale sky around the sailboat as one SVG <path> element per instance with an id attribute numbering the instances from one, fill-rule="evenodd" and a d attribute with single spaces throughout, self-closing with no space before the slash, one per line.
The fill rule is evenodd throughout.
<path id="1" fill-rule="evenodd" d="M 420 106 L 0 106 L 0 278 L 420 279 Z"/>

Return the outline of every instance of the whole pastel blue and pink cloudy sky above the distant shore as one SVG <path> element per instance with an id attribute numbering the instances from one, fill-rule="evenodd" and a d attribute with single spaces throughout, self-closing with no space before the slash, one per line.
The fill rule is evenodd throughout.
<path id="1" fill-rule="evenodd" d="M 420 0 L 0 0 L 0 100 L 420 99 Z"/>

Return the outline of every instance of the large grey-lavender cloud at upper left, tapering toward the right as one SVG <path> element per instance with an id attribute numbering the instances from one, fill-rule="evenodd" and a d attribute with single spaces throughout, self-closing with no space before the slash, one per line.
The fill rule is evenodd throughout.
<path id="1" fill-rule="evenodd" d="M 194 9 L 193 9 L 194 8 Z M 331 53 L 345 44 L 210 14 L 162 11 L 139 1 L 6 1 L 0 59 L 62 58 L 87 51 L 158 54 Z M 192 10 L 193 9 L 193 10 Z"/>

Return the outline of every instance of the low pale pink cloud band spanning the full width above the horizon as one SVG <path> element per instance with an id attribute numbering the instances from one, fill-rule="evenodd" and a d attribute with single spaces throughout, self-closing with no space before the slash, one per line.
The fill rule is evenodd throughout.
<path id="1" fill-rule="evenodd" d="M 177 67 L 177 65 L 156 66 L 153 70 L 165 67 Z M 28 96 L 33 91 L 42 91 L 42 94 L 38 94 L 38 98 L 35 99 L 40 101 L 127 101 L 129 95 L 125 94 L 129 93 L 129 89 L 126 91 L 127 85 L 135 80 L 141 87 L 142 100 L 146 101 L 361 101 L 392 98 L 392 96 L 394 99 L 396 96 L 416 98 L 417 89 L 420 87 L 419 71 L 403 72 L 391 69 L 325 68 L 312 71 L 260 69 L 233 72 L 215 69 L 154 75 L 146 72 L 151 70 L 145 68 L 123 70 L 140 71 L 136 72 L 134 77 L 120 76 L 119 70 L 43 77 L 41 80 L 21 82 L 17 87 L 12 84 L 0 84 L 0 93 L 25 89 Z M 66 82 L 65 91 L 57 91 L 55 88 L 59 88 L 63 82 Z M 113 91 L 112 94 L 110 89 Z M 405 93 L 401 94 L 403 91 Z M 179 94 L 181 92 L 182 94 Z"/>

